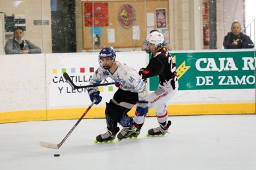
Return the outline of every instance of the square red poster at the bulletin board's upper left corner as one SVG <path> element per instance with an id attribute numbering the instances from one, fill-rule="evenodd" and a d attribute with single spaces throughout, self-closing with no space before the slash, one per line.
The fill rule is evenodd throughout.
<path id="1" fill-rule="evenodd" d="M 108 3 L 84 4 L 84 26 L 108 26 Z"/>

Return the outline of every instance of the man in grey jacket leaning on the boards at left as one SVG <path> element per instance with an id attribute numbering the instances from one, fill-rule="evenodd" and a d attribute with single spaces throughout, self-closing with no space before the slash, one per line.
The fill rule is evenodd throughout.
<path id="1" fill-rule="evenodd" d="M 23 28 L 14 28 L 14 38 L 8 39 L 4 51 L 6 54 L 38 54 L 41 53 L 40 47 L 36 46 L 27 39 L 23 39 Z"/>

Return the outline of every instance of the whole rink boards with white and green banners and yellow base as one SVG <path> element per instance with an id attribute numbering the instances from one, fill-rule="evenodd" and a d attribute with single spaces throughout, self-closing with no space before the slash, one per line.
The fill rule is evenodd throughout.
<path id="1" fill-rule="evenodd" d="M 223 56 L 218 57 L 221 52 L 182 51 L 181 55 L 175 52 L 173 57 L 177 63 L 180 88 L 177 95 L 169 102 L 170 116 L 255 114 L 255 67 L 251 67 L 252 64 L 255 66 L 255 62 L 250 63 L 252 59 L 255 60 L 254 51 L 237 52 L 241 56 L 234 56 L 236 57 L 233 57 L 234 63 L 229 59 L 229 65 L 226 67 L 233 69 L 236 67 L 237 70 L 221 73 L 235 78 L 238 73 L 236 71 L 243 69 L 240 70 L 242 75 L 239 75 L 241 84 L 235 84 L 236 87 L 228 84 L 223 87 L 213 85 L 214 82 L 208 77 L 217 77 L 220 71 L 202 70 L 204 66 L 207 67 L 205 62 L 208 61 L 207 57 L 201 63 L 197 62 L 204 55 L 211 59 L 215 58 L 217 62 L 226 60 Z M 228 56 L 226 58 L 232 58 L 231 55 L 236 54 L 234 52 L 236 51 L 223 51 L 224 56 Z M 194 54 L 196 55 L 193 56 Z M 90 98 L 86 89 L 72 89 L 62 77 L 62 73 L 69 73 L 74 83 L 79 86 L 88 84 L 90 77 L 98 68 L 97 55 L 98 53 L 1 55 L 0 77 L 4 81 L 0 84 L 0 123 L 80 118 L 90 105 Z M 246 64 L 236 65 L 237 61 L 241 62 L 245 59 Z M 141 67 L 147 65 L 148 55 L 145 52 L 117 52 L 116 60 L 127 63 L 139 71 Z M 185 66 L 184 62 L 186 62 Z M 195 65 L 198 63 L 201 70 L 196 70 L 198 67 Z M 181 67 L 188 66 L 189 69 L 181 70 Z M 149 89 L 157 84 L 154 81 L 150 79 Z M 109 82 L 112 80 L 106 79 L 104 83 Z M 85 118 L 104 118 L 105 102 L 109 102 L 116 90 L 115 86 L 100 87 L 103 101 L 99 105 L 94 105 Z M 129 115 L 132 116 L 133 113 L 134 109 Z M 154 110 L 150 109 L 148 115 L 154 116 Z"/>

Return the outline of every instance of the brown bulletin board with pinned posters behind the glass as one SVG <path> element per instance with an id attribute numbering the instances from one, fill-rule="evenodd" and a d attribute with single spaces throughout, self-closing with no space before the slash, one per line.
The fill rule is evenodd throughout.
<path id="1" fill-rule="evenodd" d="M 120 16 L 124 8 L 129 10 L 129 16 L 132 16 L 129 17 L 130 21 L 127 21 L 128 26 L 120 23 L 122 22 Z M 93 4 L 92 1 L 83 1 L 83 49 L 101 49 L 103 46 L 113 46 L 114 48 L 135 50 L 135 47 L 142 47 L 148 30 L 158 28 L 156 21 L 161 19 L 158 18 L 160 16 L 158 12 L 161 9 L 164 9 L 164 17 L 166 17 L 164 18 L 166 25 L 163 28 L 163 34 L 165 33 L 164 36 L 168 36 L 169 39 L 168 0 L 93 1 Z M 147 21 L 150 17 L 153 17 L 153 21 L 150 20 L 153 23 Z"/>

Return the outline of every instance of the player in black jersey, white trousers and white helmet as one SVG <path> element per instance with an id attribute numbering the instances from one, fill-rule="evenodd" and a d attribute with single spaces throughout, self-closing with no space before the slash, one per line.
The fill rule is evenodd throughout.
<path id="1" fill-rule="evenodd" d="M 173 57 L 169 54 L 168 49 L 163 47 L 164 37 L 158 31 L 153 31 L 147 36 L 143 43 L 143 49 L 148 54 L 152 54 L 150 62 L 146 68 L 141 68 L 139 75 L 145 81 L 152 76 L 159 77 L 158 90 L 147 95 L 148 108 L 154 107 L 156 111 L 156 118 L 160 126 L 149 129 L 149 136 L 163 135 L 168 132 L 171 121 L 168 121 L 167 106 L 169 100 L 176 94 L 179 87 L 176 76 L 176 63 Z M 137 128 L 131 136 L 138 136 L 140 129 L 145 121 L 145 113 L 138 113 L 135 111 L 134 126 Z"/>

